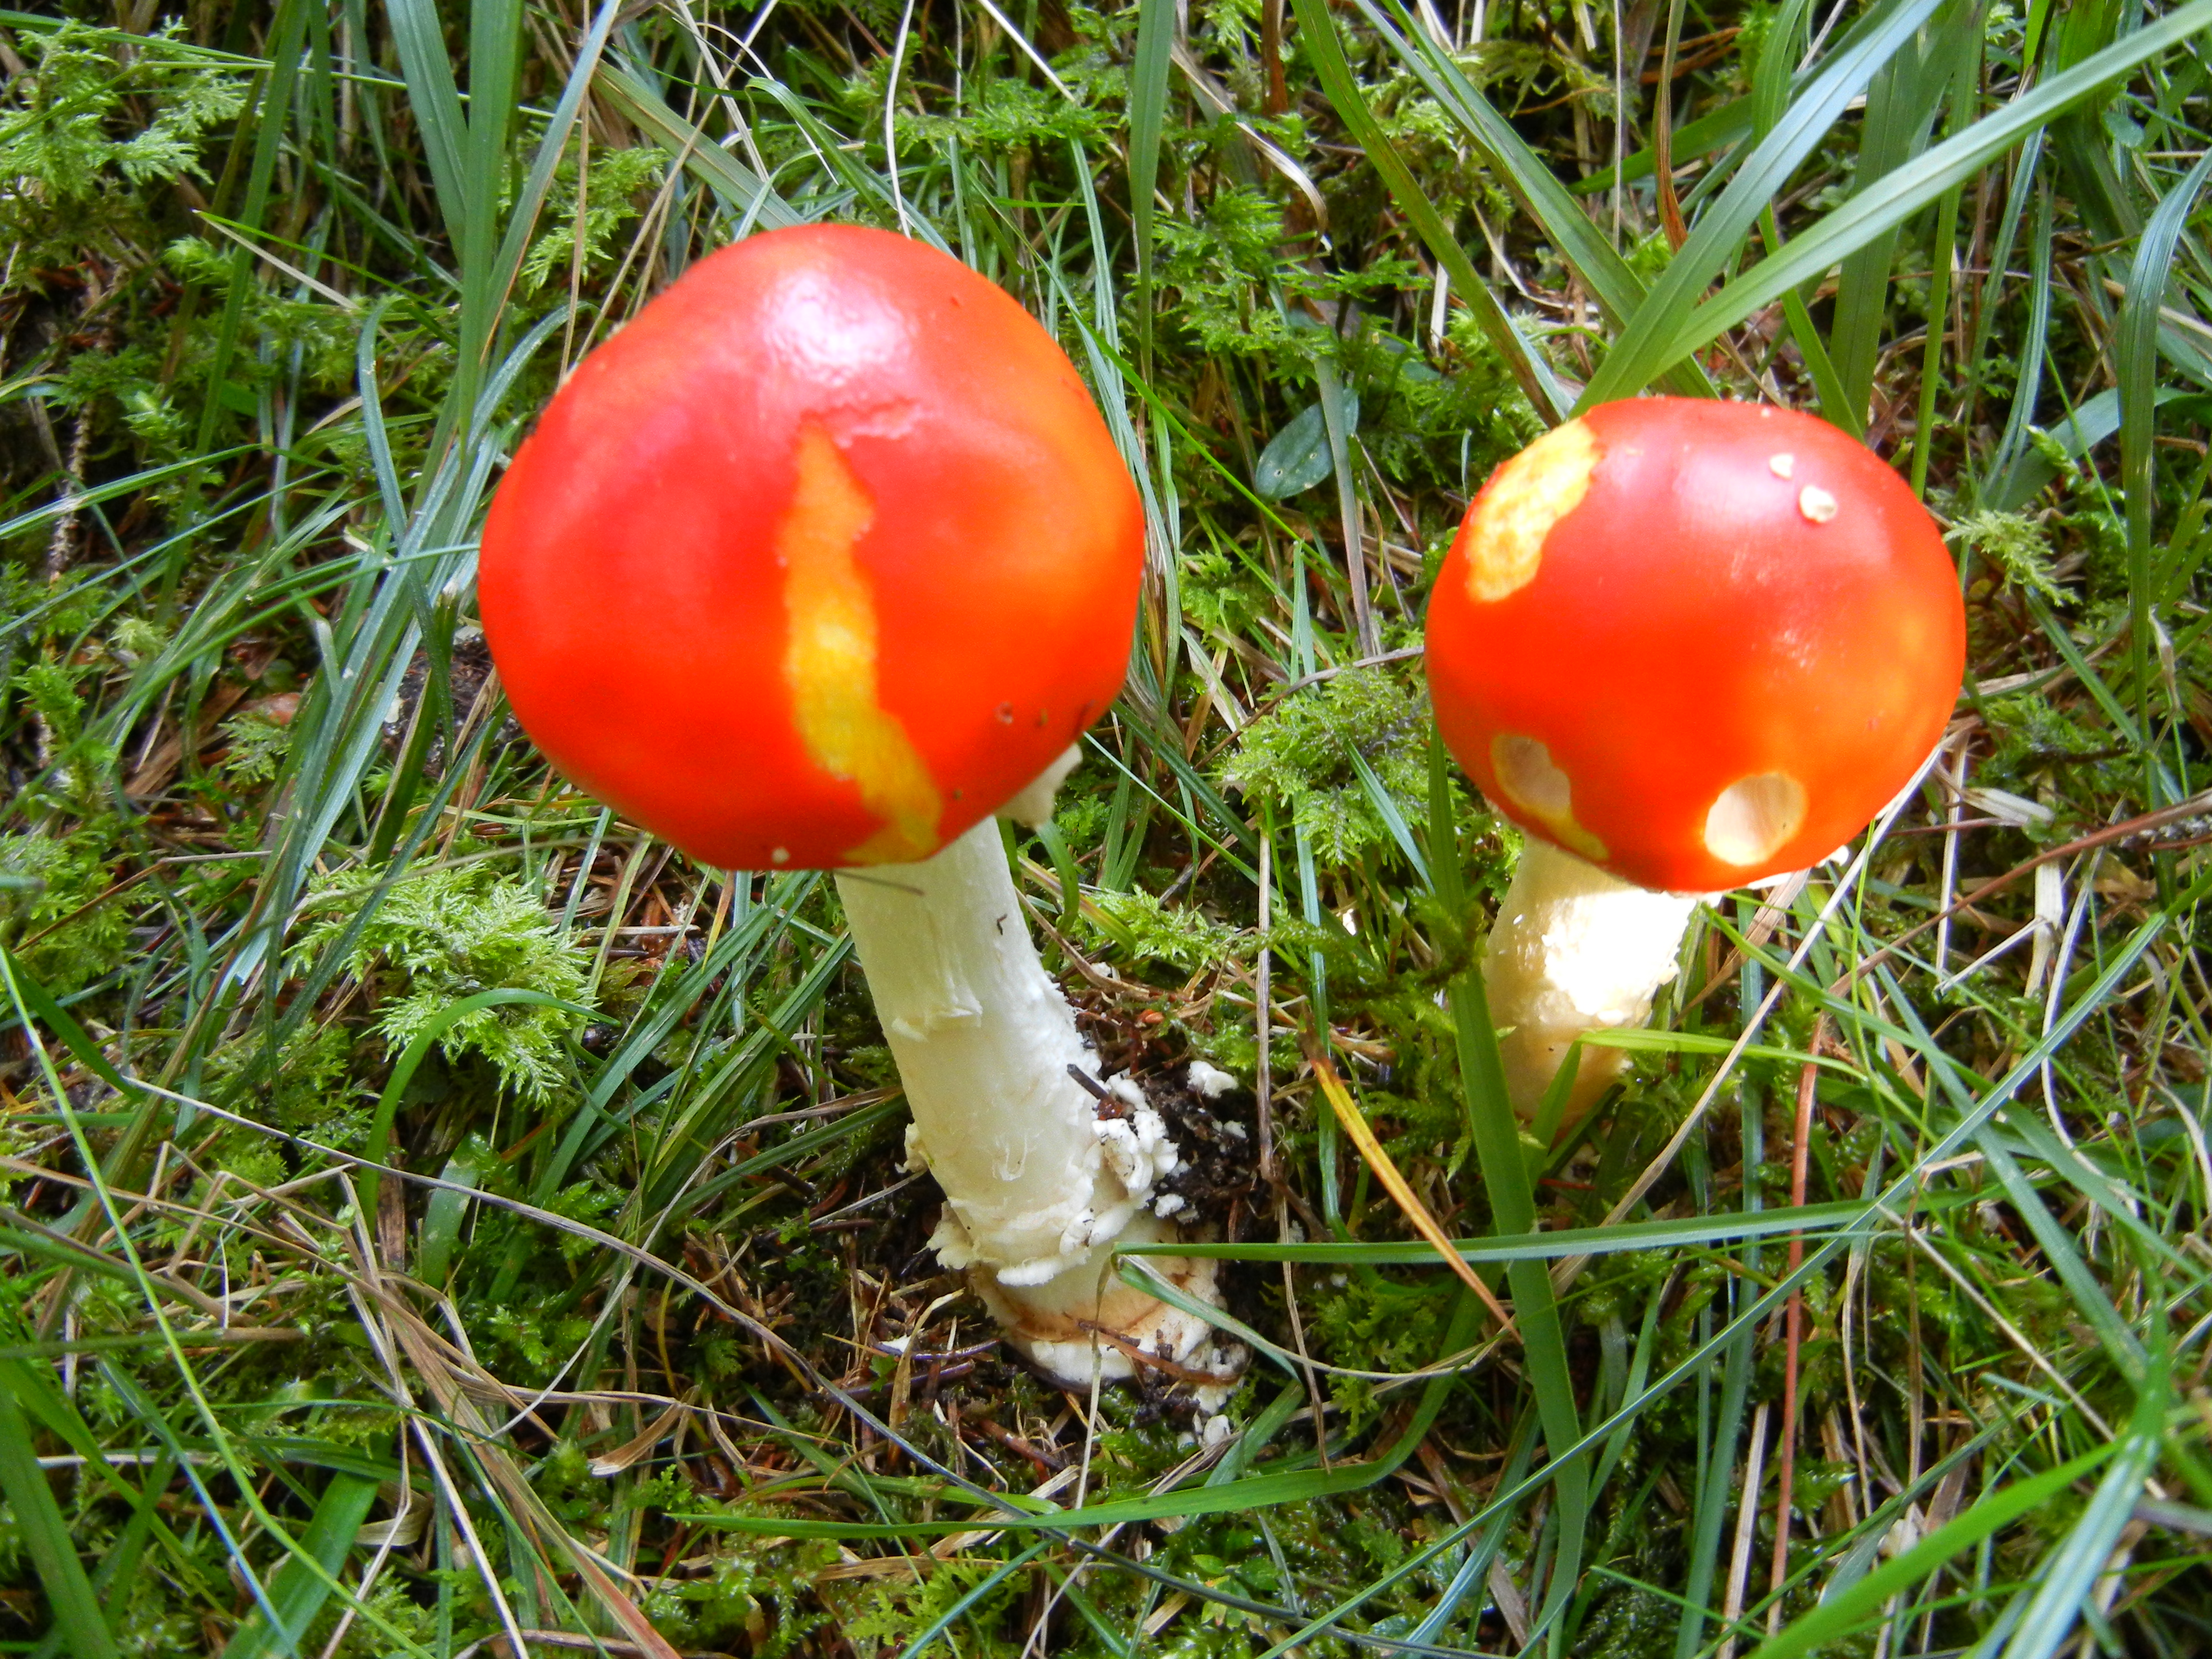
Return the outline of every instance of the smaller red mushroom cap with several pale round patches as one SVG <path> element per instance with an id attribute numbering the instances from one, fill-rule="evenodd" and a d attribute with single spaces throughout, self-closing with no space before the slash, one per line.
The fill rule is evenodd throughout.
<path id="1" fill-rule="evenodd" d="M 1721 891 L 1840 847 L 1958 697 L 1966 613 L 1911 489 L 1825 420 L 1632 398 L 1504 462 L 1429 602 L 1451 752 L 1531 834 Z"/>

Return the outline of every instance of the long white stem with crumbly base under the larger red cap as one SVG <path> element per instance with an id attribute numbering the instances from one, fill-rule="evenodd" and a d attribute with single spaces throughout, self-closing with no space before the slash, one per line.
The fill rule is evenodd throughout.
<path id="1" fill-rule="evenodd" d="M 1029 940 L 998 823 L 916 865 L 841 872 L 838 894 L 914 1110 L 909 1164 L 945 1188 L 938 1259 L 1066 1380 L 1135 1369 L 1091 1325 L 1190 1360 L 1210 1327 L 1113 1274 L 1117 1243 L 1172 1237 L 1150 1206 L 1177 1150 L 1133 1082 L 1102 1106 L 1068 1073 L 1095 1077 L 1097 1055 Z M 1150 1265 L 1214 1301 L 1210 1261 Z"/>

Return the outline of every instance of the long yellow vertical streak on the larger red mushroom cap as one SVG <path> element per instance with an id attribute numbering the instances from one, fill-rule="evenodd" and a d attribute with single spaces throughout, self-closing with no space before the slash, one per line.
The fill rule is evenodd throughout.
<path id="1" fill-rule="evenodd" d="M 852 551 L 876 522 L 876 502 L 821 427 L 803 427 L 799 484 L 776 526 L 783 564 L 783 684 L 807 757 L 860 787 L 860 805 L 883 827 L 847 849 L 856 865 L 927 858 L 940 845 L 936 779 L 920 750 L 878 703 L 876 595 Z"/>

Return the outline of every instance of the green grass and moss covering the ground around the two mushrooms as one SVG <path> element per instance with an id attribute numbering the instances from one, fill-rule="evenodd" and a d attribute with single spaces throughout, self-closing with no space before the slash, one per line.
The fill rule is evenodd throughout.
<path id="1" fill-rule="evenodd" d="M 2212 0 L 0 31 L 0 1648 L 2212 1646 Z M 1144 491 L 1128 690 L 1020 854 L 1115 1064 L 1256 1091 L 1225 1440 L 1046 1387 L 922 1252 L 834 889 L 688 865 L 487 679 L 533 411 L 814 219 L 1006 285 Z M 1489 467 L 1646 389 L 1865 436 L 1971 670 L 1540 1146 L 1422 595 Z"/>

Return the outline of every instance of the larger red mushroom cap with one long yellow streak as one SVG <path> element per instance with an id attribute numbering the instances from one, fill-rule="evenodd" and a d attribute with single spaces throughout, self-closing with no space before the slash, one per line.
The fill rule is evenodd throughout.
<path id="1" fill-rule="evenodd" d="M 854 226 L 699 261 L 546 407 L 484 635 L 575 783 L 703 863 L 925 858 L 1121 688 L 1144 518 L 1053 338 Z"/>

